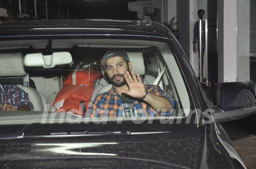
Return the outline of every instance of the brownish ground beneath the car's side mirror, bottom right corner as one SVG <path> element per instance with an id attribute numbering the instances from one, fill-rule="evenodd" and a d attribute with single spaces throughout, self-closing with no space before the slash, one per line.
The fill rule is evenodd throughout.
<path id="1" fill-rule="evenodd" d="M 256 169 L 256 136 L 237 121 L 221 124 L 248 169 Z"/>

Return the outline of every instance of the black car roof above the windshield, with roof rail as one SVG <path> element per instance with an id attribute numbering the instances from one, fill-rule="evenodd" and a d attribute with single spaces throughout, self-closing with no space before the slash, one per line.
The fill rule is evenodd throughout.
<path id="1" fill-rule="evenodd" d="M 149 18 L 149 17 L 148 17 Z M 143 21 L 67 19 L 1 22 L 0 37 L 50 35 L 135 35 L 169 38 L 166 28 L 150 18 Z"/>

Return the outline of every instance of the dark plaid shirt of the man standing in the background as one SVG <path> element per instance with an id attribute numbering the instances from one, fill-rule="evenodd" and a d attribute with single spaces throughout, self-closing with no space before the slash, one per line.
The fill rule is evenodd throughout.
<path id="1" fill-rule="evenodd" d="M 205 30 L 205 21 L 202 23 L 202 31 Z M 197 48 L 199 48 L 200 45 L 200 39 L 199 39 L 199 21 L 197 21 L 194 24 L 194 38 L 193 38 L 193 43 L 197 43 Z M 206 43 L 206 37 L 205 37 L 205 32 L 202 33 L 202 48 L 205 48 L 205 43 Z"/>

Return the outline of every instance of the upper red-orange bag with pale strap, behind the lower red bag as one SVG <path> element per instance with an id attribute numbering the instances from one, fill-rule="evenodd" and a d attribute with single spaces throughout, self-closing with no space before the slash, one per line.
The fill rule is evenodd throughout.
<path id="1" fill-rule="evenodd" d="M 63 81 L 63 86 L 68 84 L 82 85 L 87 87 L 94 87 L 94 80 L 101 79 L 101 72 L 98 70 L 75 70 L 69 74 Z"/>

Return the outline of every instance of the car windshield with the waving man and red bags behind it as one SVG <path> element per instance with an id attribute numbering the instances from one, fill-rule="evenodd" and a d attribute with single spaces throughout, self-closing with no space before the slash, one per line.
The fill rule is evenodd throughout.
<path id="1" fill-rule="evenodd" d="M 164 38 L 23 37 L 0 41 L 0 49 L 1 125 L 173 120 L 186 118 L 191 109 Z M 129 80 L 133 72 L 142 91 L 120 94 L 120 86 L 129 92 L 128 84 L 136 83 Z M 151 94 L 164 98 L 155 100 L 161 108 L 143 100 Z"/>

